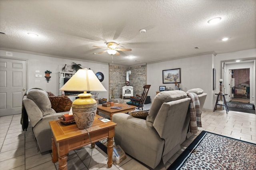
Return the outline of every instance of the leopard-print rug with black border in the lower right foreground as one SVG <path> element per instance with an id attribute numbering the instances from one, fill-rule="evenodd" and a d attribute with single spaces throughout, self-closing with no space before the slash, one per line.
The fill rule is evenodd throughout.
<path id="1" fill-rule="evenodd" d="M 188 155 L 181 156 L 185 156 L 183 162 L 178 168 L 175 167 L 180 170 L 256 169 L 256 144 L 210 132 L 205 132 L 199 142 L 193 148 L 190 148 Z M 173 163 L 174 165 L 177 160 Z M 175 169 L 172 165 L 169 168 Z"/>

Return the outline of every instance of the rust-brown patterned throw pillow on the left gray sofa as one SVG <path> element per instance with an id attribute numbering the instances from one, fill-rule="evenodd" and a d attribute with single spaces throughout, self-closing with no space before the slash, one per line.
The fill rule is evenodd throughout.
<path id="1" fill-rule="evenodd" d="M 72 107 L 72 101 L 67 96 L 49 96 L 49 99 L 56 113 L 70 111 Z"/>

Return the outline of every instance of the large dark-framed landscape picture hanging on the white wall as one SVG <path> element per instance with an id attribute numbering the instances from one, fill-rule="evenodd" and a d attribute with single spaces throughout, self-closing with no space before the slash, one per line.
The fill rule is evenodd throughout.
<path id="1" fill-rule="evenodd" d="M 180 68 L 163 70 L 163 84 L 166 83 L 181 83 Z"/>

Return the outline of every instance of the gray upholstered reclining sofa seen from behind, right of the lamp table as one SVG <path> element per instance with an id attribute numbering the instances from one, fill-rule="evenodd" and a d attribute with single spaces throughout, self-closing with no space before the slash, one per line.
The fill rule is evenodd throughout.
<path id="1" fill-rule="evenodd" d="M 192 89 L 204 105 L 206 93 Z M 125 113 L 113 115 L 115 142 L 124 152 L 151 168 L 166 162 L 180 150 L 190 123 L 190 98 L 184 91 L 163 91 L 154 98 L 146 120 Z"/>

